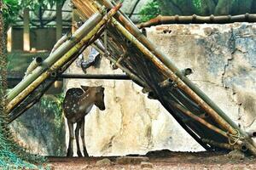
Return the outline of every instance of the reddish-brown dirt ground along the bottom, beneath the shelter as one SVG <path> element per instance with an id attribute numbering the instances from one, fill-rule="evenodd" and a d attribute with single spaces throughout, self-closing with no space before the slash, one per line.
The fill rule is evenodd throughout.
<path id="1" fill-rule="evenodd" d="M 105 159 L 107 158 L 107 159 Z M 67 158 L 49 157 L 49 166 L 55 170 L 84 169 L 256 169 L 256 158 L 244 157 L 241 153 L 216 152 L 171 152 L 160 151 L 147 156 L 129 156 L 129 161 L 118 161 L 125 157 Z M 144 159 L 148 159 L 145 161 Z M 104 159 L 104 160 L 103 160 Z M 103 160 L 103 163 L 99 162 Z M 107 160 L 107 163 L 105 162 Z M 143 162 L 141 162 L 143 161 Z"/>

